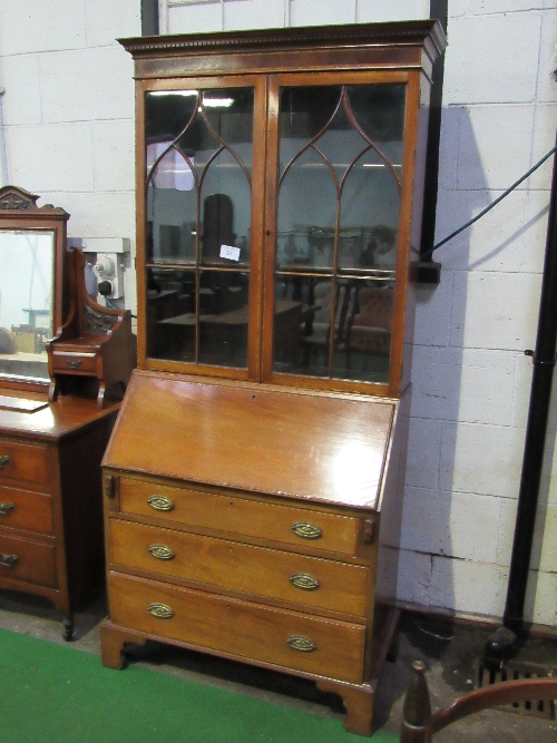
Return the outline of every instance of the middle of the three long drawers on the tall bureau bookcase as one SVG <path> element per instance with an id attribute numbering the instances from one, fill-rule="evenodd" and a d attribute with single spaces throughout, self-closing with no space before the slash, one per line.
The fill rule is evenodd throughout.
<path id="1" fill-rule="evenodd" d="M 110 520 L 113 565 L 365 616 L 368 571 L 319 557 Z"/>

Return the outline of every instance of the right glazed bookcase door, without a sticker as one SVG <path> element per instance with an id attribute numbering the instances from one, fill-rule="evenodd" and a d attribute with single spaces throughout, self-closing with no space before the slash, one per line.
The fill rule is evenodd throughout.
<path id="1" fill-rule="evenodd" d="M 400 374 L 412 94 L 400 72 L 273 78 L 264 379 L 384 393 Z"/>

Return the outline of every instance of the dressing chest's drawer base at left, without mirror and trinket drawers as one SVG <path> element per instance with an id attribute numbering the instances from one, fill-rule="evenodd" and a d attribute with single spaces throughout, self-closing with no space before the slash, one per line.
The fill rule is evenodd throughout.
<path id="1" fill-rule="evenodd" d="M 23 411 L 21 398 L 0 400 L 0 589 L 51 600 L 70 639 L 102 577 L 100 459 L 117 407 L 36 398 Z"/>

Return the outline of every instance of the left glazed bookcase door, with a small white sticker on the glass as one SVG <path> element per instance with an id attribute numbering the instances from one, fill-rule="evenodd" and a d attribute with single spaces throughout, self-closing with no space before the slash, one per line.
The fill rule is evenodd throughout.
<path id="1" fill-rule="evenodd" d="M 157 368 L 246 377 L 256 304 L 257 85 L 204 79 L 144 94 L 144 352 Z M 260 104 L 261 107 L 261 104 Z M 255 281 L 255 284 L 254 284 Z"/>

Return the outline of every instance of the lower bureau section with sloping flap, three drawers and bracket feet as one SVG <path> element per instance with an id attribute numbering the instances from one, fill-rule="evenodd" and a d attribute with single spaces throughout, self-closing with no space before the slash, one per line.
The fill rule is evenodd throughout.
<path id="1" fill-rule="evenodd" d="M 104 460 L 105 665 L 156 638 L 292 673 L 369 734 L 392 632 L 375 583 L 394 412 L 136 371 Z"/>

